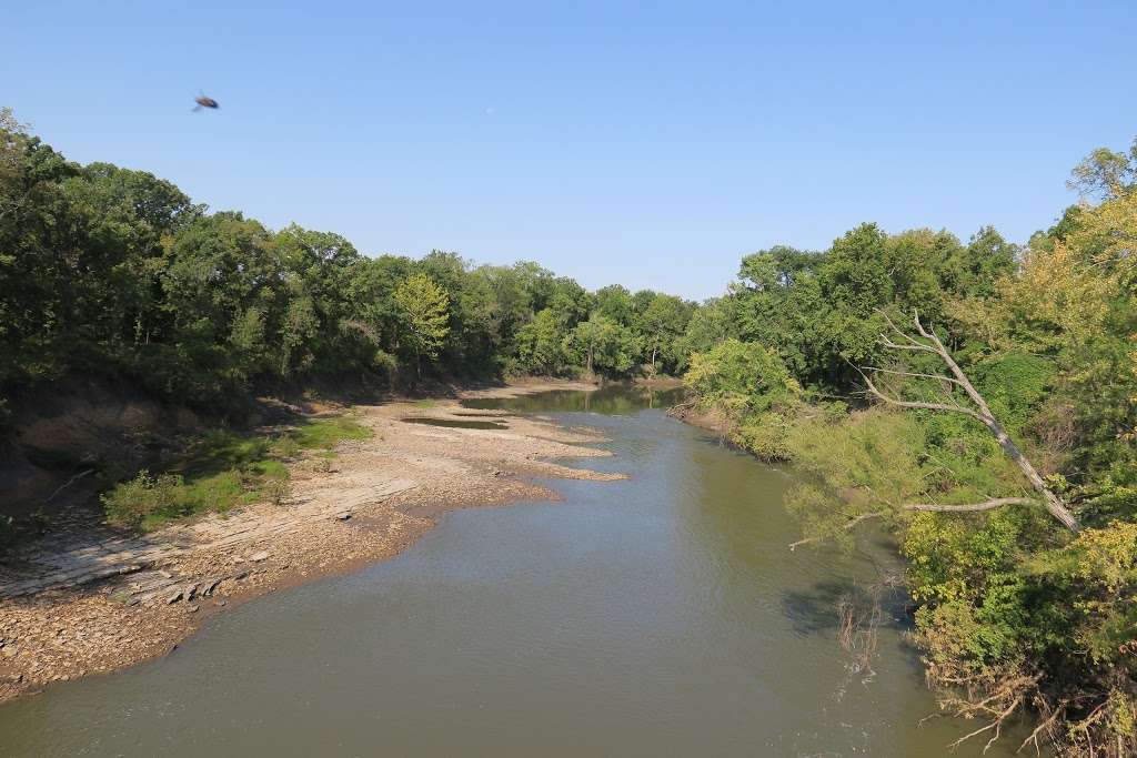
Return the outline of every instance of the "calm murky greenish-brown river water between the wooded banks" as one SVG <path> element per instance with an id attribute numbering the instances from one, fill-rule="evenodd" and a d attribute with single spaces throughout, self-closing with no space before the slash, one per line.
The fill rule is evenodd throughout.
<path id="1" fill-rule="evenodd" d="M 0 707 L 5 756 L 940 756 L 879 538 L 789 552 L 792 484 L 626 389 L 471 403 L 598 427 L 620 482 L 459 510 L 397 558 L 208 620 L 171 655 Z M 1010 743 L 1007 743 L 1010 745 Z M 988 756 L 1011 755 L 1007 745 Z M 956 756 L 978 756 L 981 743 Z"/>

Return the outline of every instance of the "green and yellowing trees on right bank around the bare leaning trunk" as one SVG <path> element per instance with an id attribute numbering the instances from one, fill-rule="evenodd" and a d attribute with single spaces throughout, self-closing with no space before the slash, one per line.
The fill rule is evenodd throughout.
<path id="1" fill-rule="evenodd" d="M 794 461 L 798 543 L 882 523 L 952 713 L 1023 745 L 1137 755 L 1137 142 L 1022 247 L 994 228 L 742 258 L 692 317 L 700 410 Z"/>

